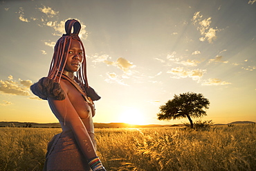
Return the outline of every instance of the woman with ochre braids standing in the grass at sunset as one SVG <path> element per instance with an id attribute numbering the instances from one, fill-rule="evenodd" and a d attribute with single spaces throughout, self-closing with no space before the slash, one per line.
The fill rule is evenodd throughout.
<path id="1" fill-rule="evenodd" d="M 55 45 L 48 77 L 30 87 L 35 95 L 48 101 L 62 126 L 62 132 L 48 143 L 44 170 L 105 170 L 95 152 L 92 119 L 93 101 L 100 97 L 86 78 L 80 29 L 77 20 L 66 21 L 66 34 Z"/>

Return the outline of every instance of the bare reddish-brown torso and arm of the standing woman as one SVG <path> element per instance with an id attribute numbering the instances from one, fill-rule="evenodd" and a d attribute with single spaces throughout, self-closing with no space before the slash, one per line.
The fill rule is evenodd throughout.
<path id="1" fill-rule="evenodd" d="M 61 79 L 60 86 L 66 98 L 62 101 L 48 99 L 51 110 L 59 119 L 63 132 L 72 130 L 87 159 L 95 157 L 95 150 L 88 132 L 94 133 L 91 108 L 71 83 Z M 87 145 L 84 145 L 86 140 Z M 88 150 L 91 149 L 91 150 Z"/>

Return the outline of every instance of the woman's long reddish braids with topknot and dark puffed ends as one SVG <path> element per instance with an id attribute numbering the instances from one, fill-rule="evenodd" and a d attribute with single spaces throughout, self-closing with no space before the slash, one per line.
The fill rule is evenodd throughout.
<path id="1" fill-rule="evenodd" d="M 71 30 L 73 28 L 73 32 Z M 63 34 L 60 39 L 57 40 L 55 44 L 53 59 L 51 61 L 50 69 L 47 77 L 39 79 L 37 83 L 30 86 L 30 90 L 37 95 L 39 98 L 46 100 L 48 97 L 54 97 L 57 100 L 65 99 L 65 93 L 60 87 L 60 79 L 64 68 L 66 66 L 68 50 L 71 47 L 71 41 L 76 40 L 81 43 L 83 50 L 84 61 L 79 70 L 76 72 L 76 80 L 80 83 L 80 86 L 86 92 L 88 97 L 91 97 L 93 101 L 99 100 L 100 97 L 89 87 L 87 76 L 86 76 L 86 55 L 84 45 L 78 36 L 81 30 L 81 24 L 75 19 L 69 19 L 65 23 L 66 34 Z"/>

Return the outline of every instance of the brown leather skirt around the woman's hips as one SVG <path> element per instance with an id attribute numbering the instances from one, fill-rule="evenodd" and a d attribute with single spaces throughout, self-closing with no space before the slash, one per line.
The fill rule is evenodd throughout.
<path id="1" fill-rule="evenodd" d="M 95 147 L 94 134 L 89 132 L 89 135 Z M 44 170 L 91 170 L 72 131 L 56 134 L 48 143 L 47 150 Z"/>

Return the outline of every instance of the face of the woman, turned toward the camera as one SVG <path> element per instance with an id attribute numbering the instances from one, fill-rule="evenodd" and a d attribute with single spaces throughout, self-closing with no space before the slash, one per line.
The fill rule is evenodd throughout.
<path id="1" fill-rule="evenodd" d="M 71 47 L 68 50 L 67 58 L 64 70 L 68 72 L 77 72 L 82 65 L 82 61 L 84 61 L 82 46 L 79 41 L 71 40 Z"/>

